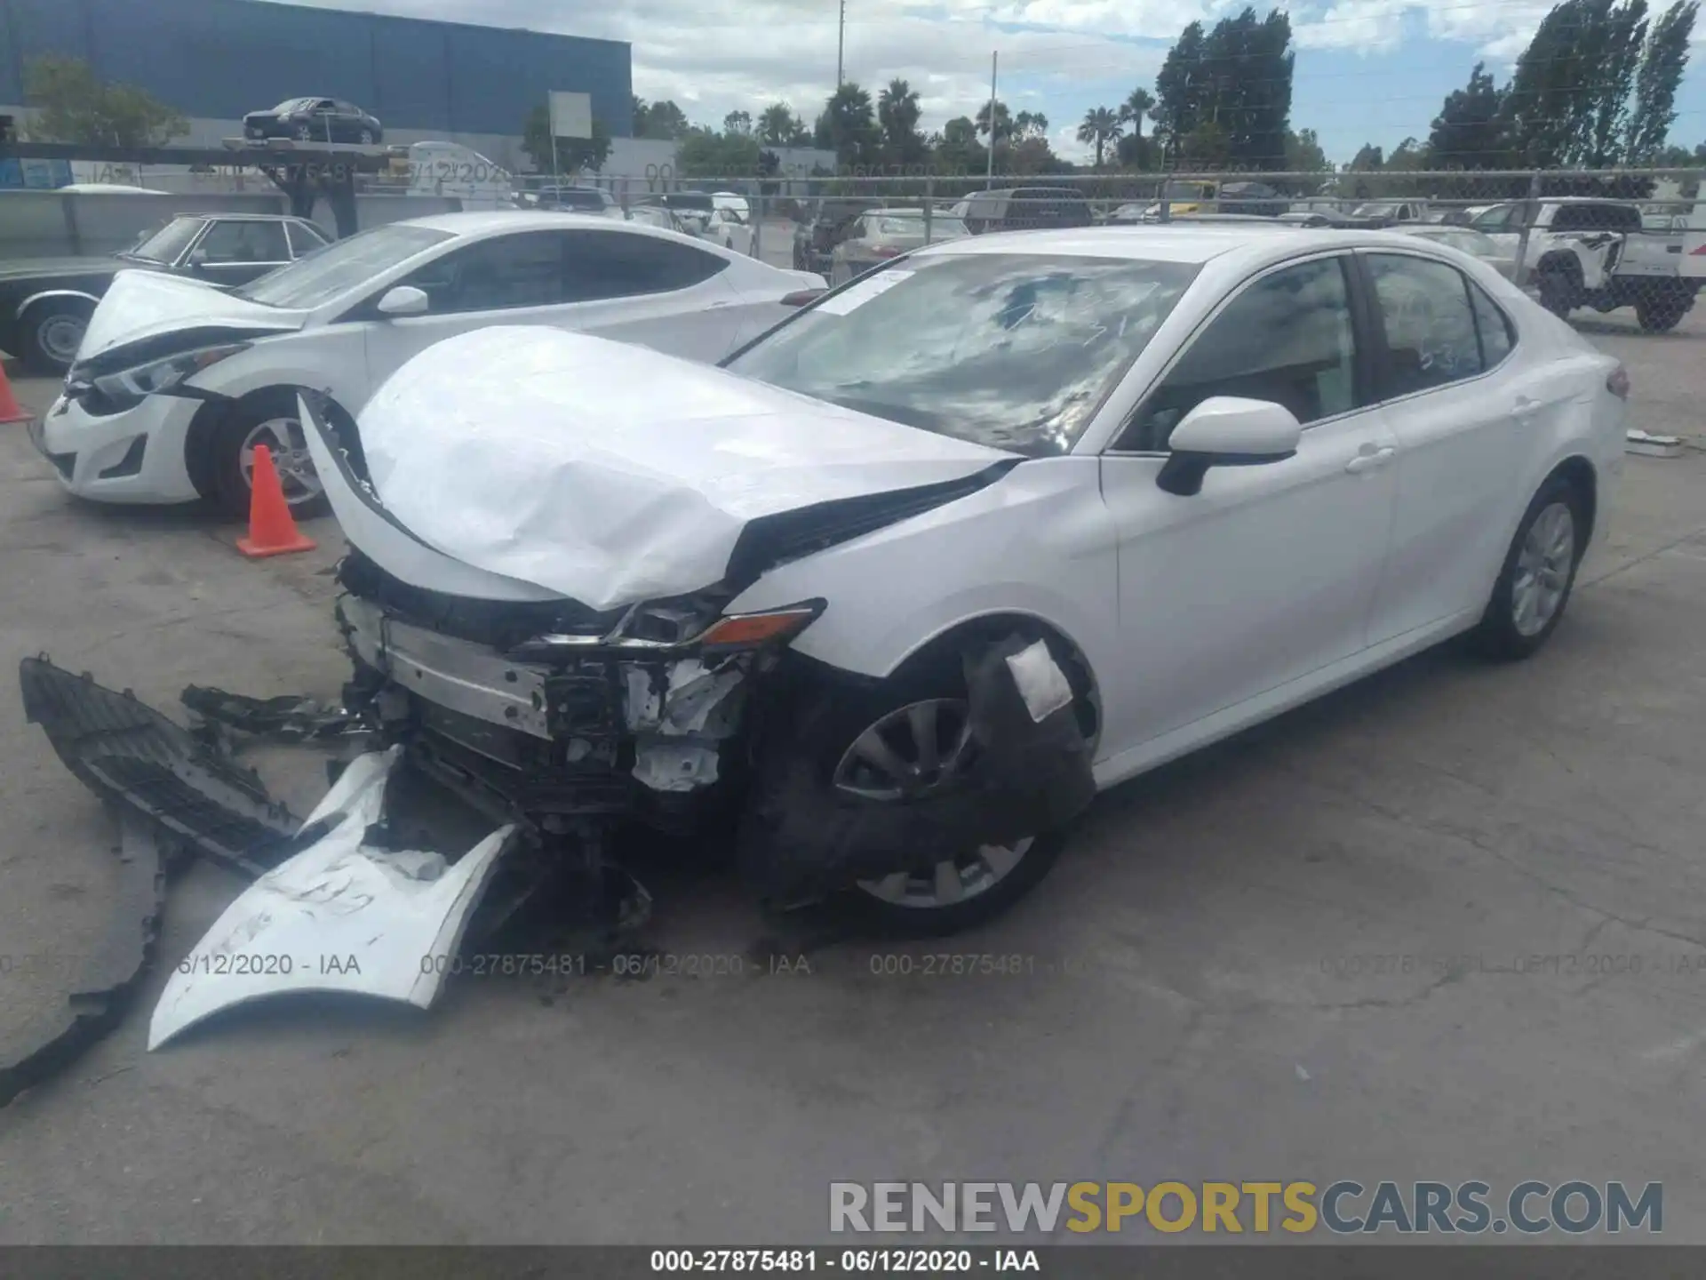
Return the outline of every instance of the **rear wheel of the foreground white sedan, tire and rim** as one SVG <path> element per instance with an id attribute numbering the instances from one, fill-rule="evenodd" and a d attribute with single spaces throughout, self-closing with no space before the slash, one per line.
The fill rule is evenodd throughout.
<path id="1" fill-rule="evenodd" d="M 1558 630 L 1587 551 L 1587 503 L 1564 476 L 1552 476 L 1523 512 L 1481 623 L 1471 633 L 1484 657 L 1525 659 Z"/>

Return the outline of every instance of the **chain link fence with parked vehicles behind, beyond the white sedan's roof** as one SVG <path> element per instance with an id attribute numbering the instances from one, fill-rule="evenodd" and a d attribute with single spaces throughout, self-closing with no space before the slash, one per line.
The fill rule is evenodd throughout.
<path id="1" fill-rule="evenodd" d="M 1706 276 L 1706 208 L 1696 213 L 1703 174 L 1518 169 L 989 179 L 920 172 L 792 179 L 785 189 L 725 176 L 689 179 L 672 191 L 630 191 L 624 200 L 606 188 L 604 198 L 616 217 L 676 225 L 831 283 L 909 249 L 1003 230 L 1215 224 L 1283 225 L 1300 234 L 1390 230 L 1486 259 L 1559 316 L 1633 307 L 1645 329 L 1665 331 L 1687 314 Z"/>

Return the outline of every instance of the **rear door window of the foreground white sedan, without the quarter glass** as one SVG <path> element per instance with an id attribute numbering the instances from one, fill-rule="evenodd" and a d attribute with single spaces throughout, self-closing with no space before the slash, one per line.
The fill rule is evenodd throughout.
<path id="1" fill-rule="evenodd" d="M 1443 387 L 1481 372 L 1469 282 L 1445 263 L 1368 254 L 1385 326 L 1394 396 Z"/>

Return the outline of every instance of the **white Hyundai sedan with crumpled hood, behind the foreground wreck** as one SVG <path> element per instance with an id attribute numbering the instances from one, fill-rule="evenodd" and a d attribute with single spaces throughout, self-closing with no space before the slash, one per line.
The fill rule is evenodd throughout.
<path id="1" fill-rule="evenodd" d="M 237 515 L 264 444 L 287 500 L 307 507 L 321 481 L 300 389 L 350 418 L 411 357 L 500 323 L 717 362 L 822 287 L 670 230 L 512 210 L 365 230 L 229 292 L 123 271 L 34 435 L 78 497 L 212 498 Z"/>

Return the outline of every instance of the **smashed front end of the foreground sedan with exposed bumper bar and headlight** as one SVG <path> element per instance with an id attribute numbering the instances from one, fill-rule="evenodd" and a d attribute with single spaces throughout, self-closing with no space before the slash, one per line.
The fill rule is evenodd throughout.
<path id="1" fill-rule="evenodd" d="M 338 573 L 345 707 L 481 812 L 548 833 L 614 817 L 691 829 L 740 778 L 754 678 L 824 608 L 479 601 L 413 587 L 360 551 Z"/>

